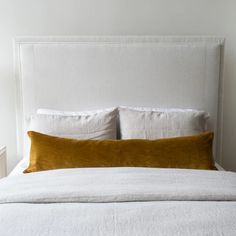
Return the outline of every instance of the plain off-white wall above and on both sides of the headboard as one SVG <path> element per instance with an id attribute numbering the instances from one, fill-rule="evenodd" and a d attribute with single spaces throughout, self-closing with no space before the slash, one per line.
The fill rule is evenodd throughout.
<path id="1" fill-rule="evenodd" d="M 226 36 L 223 165 L 236 170 L 236 17 L 234 0 L 0 0 L 0 145 L 8 168 L 16 164 L 15 36 L 220 35 Z"/>

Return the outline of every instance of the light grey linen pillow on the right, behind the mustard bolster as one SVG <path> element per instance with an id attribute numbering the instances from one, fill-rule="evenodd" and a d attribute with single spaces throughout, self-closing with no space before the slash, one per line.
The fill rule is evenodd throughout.
<path id="1" fill-rule="evenodd" d="M 209 118 L 191 109 L 119 108 L 121 139 L 159 139 L 199 134 Z"/>

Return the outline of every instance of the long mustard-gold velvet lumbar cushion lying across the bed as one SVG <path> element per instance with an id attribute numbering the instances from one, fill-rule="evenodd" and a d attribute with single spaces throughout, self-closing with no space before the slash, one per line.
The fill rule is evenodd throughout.
<path id="1" fill-rule="evenodd" d="M 24 173 L 76 167 L 215 169 L 213 133 L 159 140 L 75 140 L 29 131 L 30 164 Z"/>

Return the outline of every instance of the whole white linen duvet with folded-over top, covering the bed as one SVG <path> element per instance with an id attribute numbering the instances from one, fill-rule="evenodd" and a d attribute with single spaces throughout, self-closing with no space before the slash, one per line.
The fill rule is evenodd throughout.
<path id="1" fill-rule="evenodd" d="M 0 235 L 236 235 L 236 173 L 44 171 L 0 180 Z"/>

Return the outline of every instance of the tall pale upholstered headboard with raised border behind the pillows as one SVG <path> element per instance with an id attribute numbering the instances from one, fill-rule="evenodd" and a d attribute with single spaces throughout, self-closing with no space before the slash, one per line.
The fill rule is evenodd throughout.
<path id="1" fill-rule="evenodd" d="M 17 38 L 19 158 L 38 108 L 131 105 L 208 111 L 220 162 L 223 45 L 216 37 Z"/>

